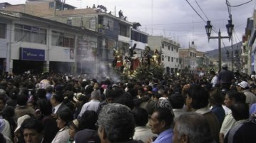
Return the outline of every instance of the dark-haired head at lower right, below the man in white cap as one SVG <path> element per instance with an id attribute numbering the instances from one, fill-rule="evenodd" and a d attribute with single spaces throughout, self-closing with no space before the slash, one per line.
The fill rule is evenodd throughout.
<path id="1" fill-rule="evenodd" d="M 249 106 L 245 102 L 235 102 L 231 107 L 232 117 L 236 121 L 247 120 L 249 118 Z"/>

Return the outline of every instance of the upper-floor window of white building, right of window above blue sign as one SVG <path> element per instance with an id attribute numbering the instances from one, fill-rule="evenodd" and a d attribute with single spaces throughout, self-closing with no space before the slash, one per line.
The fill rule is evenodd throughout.
<path id="1" fill-rule="evenodd" d="M 68 33 L 52 31 L 52 46 L 75 48 L 75 36 Z"/>

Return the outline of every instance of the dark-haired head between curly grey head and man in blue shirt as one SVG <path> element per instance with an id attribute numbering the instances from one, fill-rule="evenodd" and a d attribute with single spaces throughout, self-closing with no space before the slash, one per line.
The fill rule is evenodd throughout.
<path id="1" fill-rule="evenodd" d="M 135 120 L 135 125 L 138 126 L 145 126 L 148 123 L 148 112 L 147 110 L 141 107 L 135 107 L 133 109 L 133 117 Z"/>

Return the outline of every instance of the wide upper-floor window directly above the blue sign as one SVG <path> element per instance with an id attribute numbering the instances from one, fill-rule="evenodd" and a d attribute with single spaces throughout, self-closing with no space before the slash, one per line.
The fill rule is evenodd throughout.
<path id="1" fill-rule="evenodd" d="M 46 44 L 46 29 L 15 24 L 15 41 Z"/>

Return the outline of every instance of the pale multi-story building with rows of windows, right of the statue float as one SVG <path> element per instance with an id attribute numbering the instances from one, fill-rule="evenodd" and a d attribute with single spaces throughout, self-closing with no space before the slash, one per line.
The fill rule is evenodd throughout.
<path id="1" fill-rule="evenodd" d="M 166 73 L 178 72 L 180 69 L 178 56 L 180 43 L 163 36 L 148 36 L 148 46 L 150 46 L 151 51 L 158 50 Z"/>

